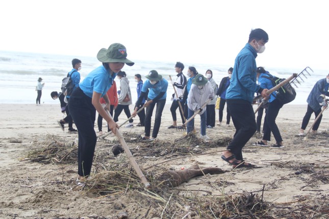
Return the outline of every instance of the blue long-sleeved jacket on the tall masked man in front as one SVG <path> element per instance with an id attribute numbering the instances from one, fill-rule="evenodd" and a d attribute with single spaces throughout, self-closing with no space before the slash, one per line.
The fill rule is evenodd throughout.
<path id="1" fill-rule="evenodd" d="M 252 103 L 260 89 L 256 84 L 256 50 L 247 43 L 235 59 L 231 84 L 226 90 L 226 99 L 242 99 Z"/>

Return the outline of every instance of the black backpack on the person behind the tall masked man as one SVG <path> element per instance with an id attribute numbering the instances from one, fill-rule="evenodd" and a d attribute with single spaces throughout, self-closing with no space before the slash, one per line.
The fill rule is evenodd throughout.
<path id="1" fill-rule="evenodd" d="M 268 73 L 266 73 L 266 74 L 268 76 L 262 76 L 262 77 L 270 79 L 272 81 L 273 87 L 275 87 L 276 85 L 279 85 L 282 81 L 284 81 L 286 79 L 286 78 L 279 78 L 279 77 L 273 76 Z M 296 91 L 290 85 L 289 82 L 274 92 L 276 93 L 276 99 L 281 101 L 282 104 L 290 103 L 296 97 Z"/>

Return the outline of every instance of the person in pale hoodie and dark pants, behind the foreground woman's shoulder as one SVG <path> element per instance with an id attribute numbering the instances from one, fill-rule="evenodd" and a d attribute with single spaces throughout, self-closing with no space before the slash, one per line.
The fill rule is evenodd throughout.
<path id="1" fill-rule="evenodd" d="M 131 94 L 130 87 L 129 87 L 129 80 L 126 77 L 125 72 L 119 71 L 119 73 L 117 73 L 117 77 L 120 79 L 120 90 L 118 91 L 119 104 L 114 111 L 114 118 L 113 118 L 114 122 L 119 121 L 119 116 L 120 116 L 122 110 L 124 111 L 127 118 L 130 118 L 131 114 L 130 114 L 130 110 L 129 110 L 129 105 L 133 103 L 132 94 Z M 134 127 L 133 122 L 134 122 L 134 120 L 130 119 L 129 124 L 126 125 L 125 127 L 126 128 Z"/>

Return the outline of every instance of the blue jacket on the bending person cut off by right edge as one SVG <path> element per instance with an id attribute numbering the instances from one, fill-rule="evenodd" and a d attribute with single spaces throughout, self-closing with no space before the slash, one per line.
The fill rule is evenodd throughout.
<path id="1" fill-rule="evenodd" d="M 324 94 L 325 96 L 329 96 L 328 92 L 329 84 L 327 83 L 325 78 L 322 78 L 315 83 L 309 97 L 307 98 L 307 103 L 311 106 L 314 111 L 321 110 L 321 106 L 319 103 L 323 101 L 323 98 L 320 97 L 320 94 Z"/>

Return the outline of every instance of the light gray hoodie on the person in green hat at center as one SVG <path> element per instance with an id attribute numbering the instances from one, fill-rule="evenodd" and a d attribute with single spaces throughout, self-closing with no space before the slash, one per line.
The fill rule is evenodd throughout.
<path id="1" fill-rule="evenodd" d="M 198 89 L 198 87 L 194 84 L 191 85 L 190 92 L 187 96 L 187 106 L 190 110 L 196 112 L 198 108 L 202 107 L 209 97 L 214 98 L 215 93 L 214 89 L 211 87 L 210 82 L 208 81 L 206 85 L 203 86 L 202 89 Z M 203 107 L 202 111 L 199 115 L 206 112 L 206 106 Z"/>

